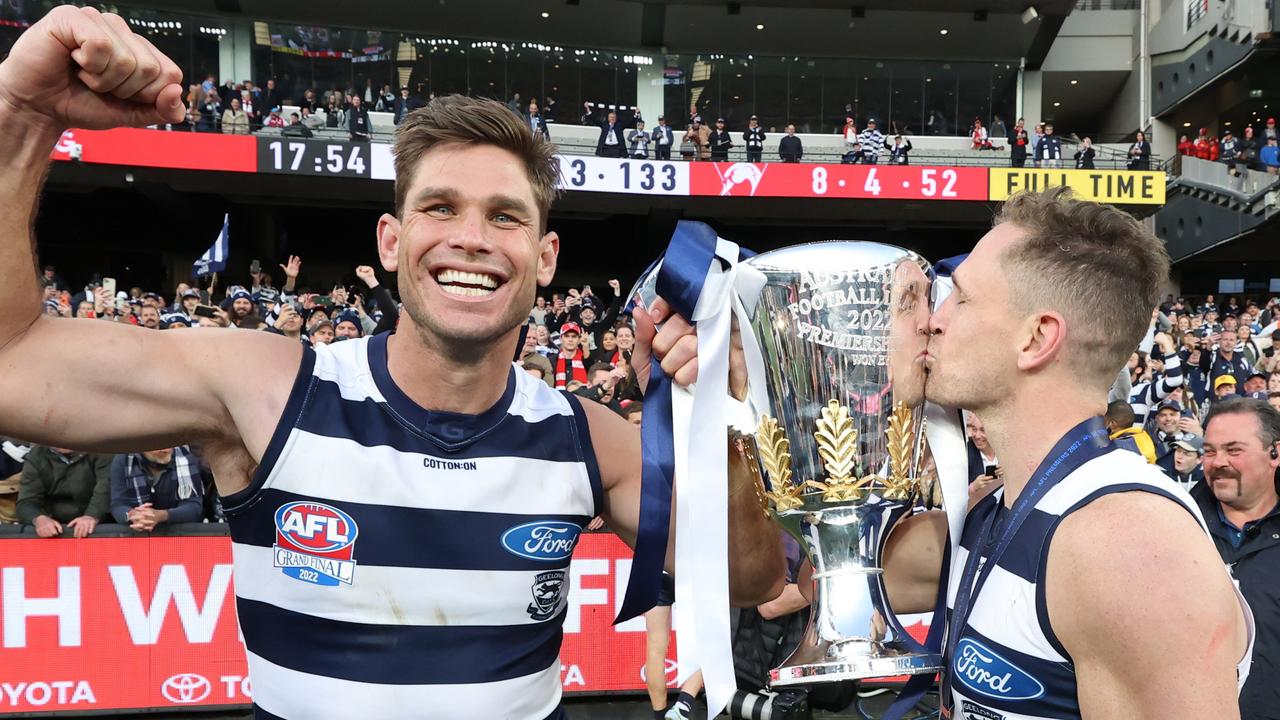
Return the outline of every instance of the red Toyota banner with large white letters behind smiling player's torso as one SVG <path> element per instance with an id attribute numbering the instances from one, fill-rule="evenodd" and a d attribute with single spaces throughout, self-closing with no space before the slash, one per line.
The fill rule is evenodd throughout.
<path id="1" fill-rule="evenodd" d="M 0 714 L 252 702 L 229 538 L 0 542 Z M 561 651 L 566 693 L 644 688 L 644 619 L 612 625 L 630 569 L 617 537 L 582 536 Z"/>

